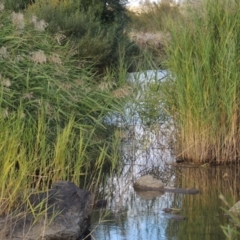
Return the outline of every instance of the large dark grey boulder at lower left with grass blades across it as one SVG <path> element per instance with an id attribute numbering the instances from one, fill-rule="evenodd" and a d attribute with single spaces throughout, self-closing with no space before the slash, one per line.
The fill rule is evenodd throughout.
<path id="1" fill-rule="evenodd" d="M 17 217 L 8 215 L 0 220 L 6 226 L 4 239 L 81 239 L 90 227 L 93 200 L 92 193 L 75 184 L 57 182 L 48 192 L 30 195 Z"/>

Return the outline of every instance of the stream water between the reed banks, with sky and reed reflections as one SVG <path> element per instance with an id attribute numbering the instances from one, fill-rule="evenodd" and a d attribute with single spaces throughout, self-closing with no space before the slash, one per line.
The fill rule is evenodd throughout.
<path id="1" fill-rule="evenodd" d="M 147 81 L 164 81 L 166 72 L 148 71 L 130 75 L 129 81 L 146 87 Z M 142 81 L 144 79 L 144 81 Z M 140 81 L 139 81 L 140 80 Z M 122 168 L 109 177 L 102 190 L 106 208 L 94 210 L 92 239 L 97 240 L 221 240 L 226 239 L 221 226 L 229 220 L 223 209 L 239 200 L 240 174 L 236 166 L 175 166 L 171 121 L 145 126 L 137 106 L 126 106 L 125 116 L 111 116 L 109 123 L 123 129 Z M 123 120 L 124 119 L 124 120 Z M 196 188 L 198 195 L 135 192 L 133 183 L 151 174 L 165 185 Z M 229 206 L 219 198 L 225 196 Z M 172 219 L 164 208 L 178 209 L 185 220 Z"/>

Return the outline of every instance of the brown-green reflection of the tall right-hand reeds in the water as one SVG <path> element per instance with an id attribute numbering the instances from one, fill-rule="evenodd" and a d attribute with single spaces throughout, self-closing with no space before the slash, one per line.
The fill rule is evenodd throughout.
<path id="1" fill-rule="evenodd" d="M 230 204 L 239 200 L 238 183 L 240 176 L 236 167 L 181 168 L 176 174 L 175 185 L 182 188 L 195 187 L 199 195 L 184 195 L 179 201 L 175 196 L 173 207 L 182 209 L 186 222 L 170 223 L 169 234 L 178 229 L 179 239 L 220 240 L 225 236 L 220 228 L 226 225 L 227 218 L 222 208 L 229 208 L 219 199 L 223 194 Z"/>

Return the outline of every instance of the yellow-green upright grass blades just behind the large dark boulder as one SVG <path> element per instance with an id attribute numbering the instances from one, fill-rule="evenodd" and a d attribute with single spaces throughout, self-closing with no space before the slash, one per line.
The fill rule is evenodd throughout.
<path id="1" fill-rule="evenodd" d="M 45 120 L 44 114 L 39 114 L 37 124 L 20 114 L 0 119 L 1 215 L 22 204 L 30 190 L 47 190 L 60 180 L 97 191 L 106 161 L 112 170 L 116 166 L 118 156 L 109 152 L 111 142 L 96 141 L 96 129 L 70 119 L 64 128 L 58 126 L 55 139 L 49 140 L 51 129 Z"/>

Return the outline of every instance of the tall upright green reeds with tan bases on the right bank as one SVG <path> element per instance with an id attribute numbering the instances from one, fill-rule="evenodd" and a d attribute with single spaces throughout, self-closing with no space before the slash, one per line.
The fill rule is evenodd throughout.
<path id="1" fill-rule="evenodd" d="M 239 19 L 238 1 L 201 1 L 170 26 L 165 97 L 181 159 L 239 160 Z"/>

